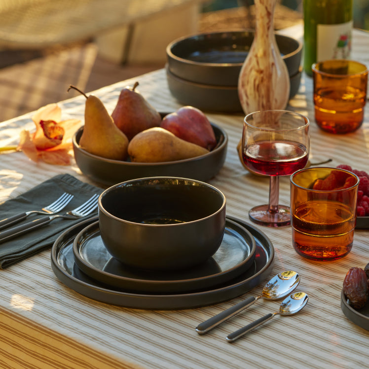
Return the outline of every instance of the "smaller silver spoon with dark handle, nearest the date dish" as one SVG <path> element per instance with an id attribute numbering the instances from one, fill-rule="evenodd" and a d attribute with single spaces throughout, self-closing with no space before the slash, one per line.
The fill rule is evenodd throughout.
<path id="1" fill-rule="evenodd" d="M 307 303 L 307 300 L 309 299 L 309 296 L 306 295 L 304 292 L 296 292 L 295 294 L 289 295 L 286 297 L 279 307 L 279 311 L 275 313 L 269 313 L 263 316 L 262 318 L 259 318 L 253 323 L 248 324 L 245 327 L 240 328 L 239 330 L 230 333 L 226 336 L 226 340 L 228 342 L 233 342 L 236 339 L 240 338 L 244 334 L 254 330 L 261 324 L 267 322 L 268 320 L 272 319 L 275 315 L 293 315 L 299 312 Z"/>

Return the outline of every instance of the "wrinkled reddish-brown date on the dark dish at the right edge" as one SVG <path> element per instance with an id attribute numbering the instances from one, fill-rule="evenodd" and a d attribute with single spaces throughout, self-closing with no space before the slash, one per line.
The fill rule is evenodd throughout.
<path id="1" fill-rule="evenodd" d="M 362 308 L 368 299 L 367 274 L 364 269 L 351 268 L 343 281 L 343 293 L 355 309 Z"/>

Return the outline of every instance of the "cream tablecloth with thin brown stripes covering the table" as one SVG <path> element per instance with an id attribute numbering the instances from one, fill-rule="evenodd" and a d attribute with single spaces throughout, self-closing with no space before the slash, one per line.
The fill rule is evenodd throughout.
<path id="1" fill-rule="evenodd" d="M 354 33 L 352 57 L 369 65 L 368 34 Z M 136 80 L 141 93 L 157 110 L 180 107 L 168 90 L 164 70 L 122 81 L 95 94 L 112 111 L 120 90 Z M 61 102 L 63 118 L 83 119 L 84 102 L 82 96 Z M 306 114 L 312 121 L 312 161 L 332 158 L 332 166 L 342 163 L 369 170 L 368 107 L 357 132 L 341 136 L 324 133 L 314 122 L 312 80 L 303 76 L 289 109 Z M 17 143 L 21 129 L 32 130 L 31 115 L 0 123 L 0 146 Z M 229 135 L 224 167 L 210 183 L 226 195 L 227 213 L 248 221 L 248 210 L 267 201 L 268 179 L 249 174 L 238 159 L 236 145 L 243 116 L 208 116 Z M 75 164 L 35 164 L 21 152 L 2 154 L 0 202 L 65 172 L 88 182 Z M 289 179 L 281 178 L 280 203 L 289 204 L 289 194 Z M 262 284 L 243 296 L 207 307 L 128 309 L 86 298 L 63 285 L 51 269 L 48 250 L 0 271 L 1 368 L 366 368 L 369 332 L 344 316 L 340 293 L 347 270 L 369 262 L 369 231 L 355 232 L 354 247 L 347 257 L 314 262 L 295 253 L 291 227 L 261 228 L 275 248 L 270 277 L 293 269 L 301 276 L 298 290 L 309 295 L 307 306 L 294 317 L 278 316 L 229 344 L 225 341 L 227 333 L 277 311 L 280 301 L 260 300 L 247 313 L 204 336 L 194 328 L 243 297 L 260 295 Z"/>

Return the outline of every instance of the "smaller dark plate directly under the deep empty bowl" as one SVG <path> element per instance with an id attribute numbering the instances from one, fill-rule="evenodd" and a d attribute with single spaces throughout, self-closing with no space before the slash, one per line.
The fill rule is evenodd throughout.
<path id="1" fill-rule="evenodd" d="M 77 234 L 73 252 L 81 271 L 111 287 L 179 293 L 214 287 L 244 273 L 254 263 L 256 243 L 245 227 L 227 219 L 221 246 L 205 263 L 185 270 L 144 270 L 128 267 L 109 254 L 96 221 Z"/>

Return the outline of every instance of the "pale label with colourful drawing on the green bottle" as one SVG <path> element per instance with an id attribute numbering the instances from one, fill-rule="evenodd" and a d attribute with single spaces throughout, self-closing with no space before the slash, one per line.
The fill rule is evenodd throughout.
<path id="1" fill-rule="evenodd" d="M 352 20 L 340 24 L 317 25 L 317 62 L 350 57 L 352 25 Z"/>

